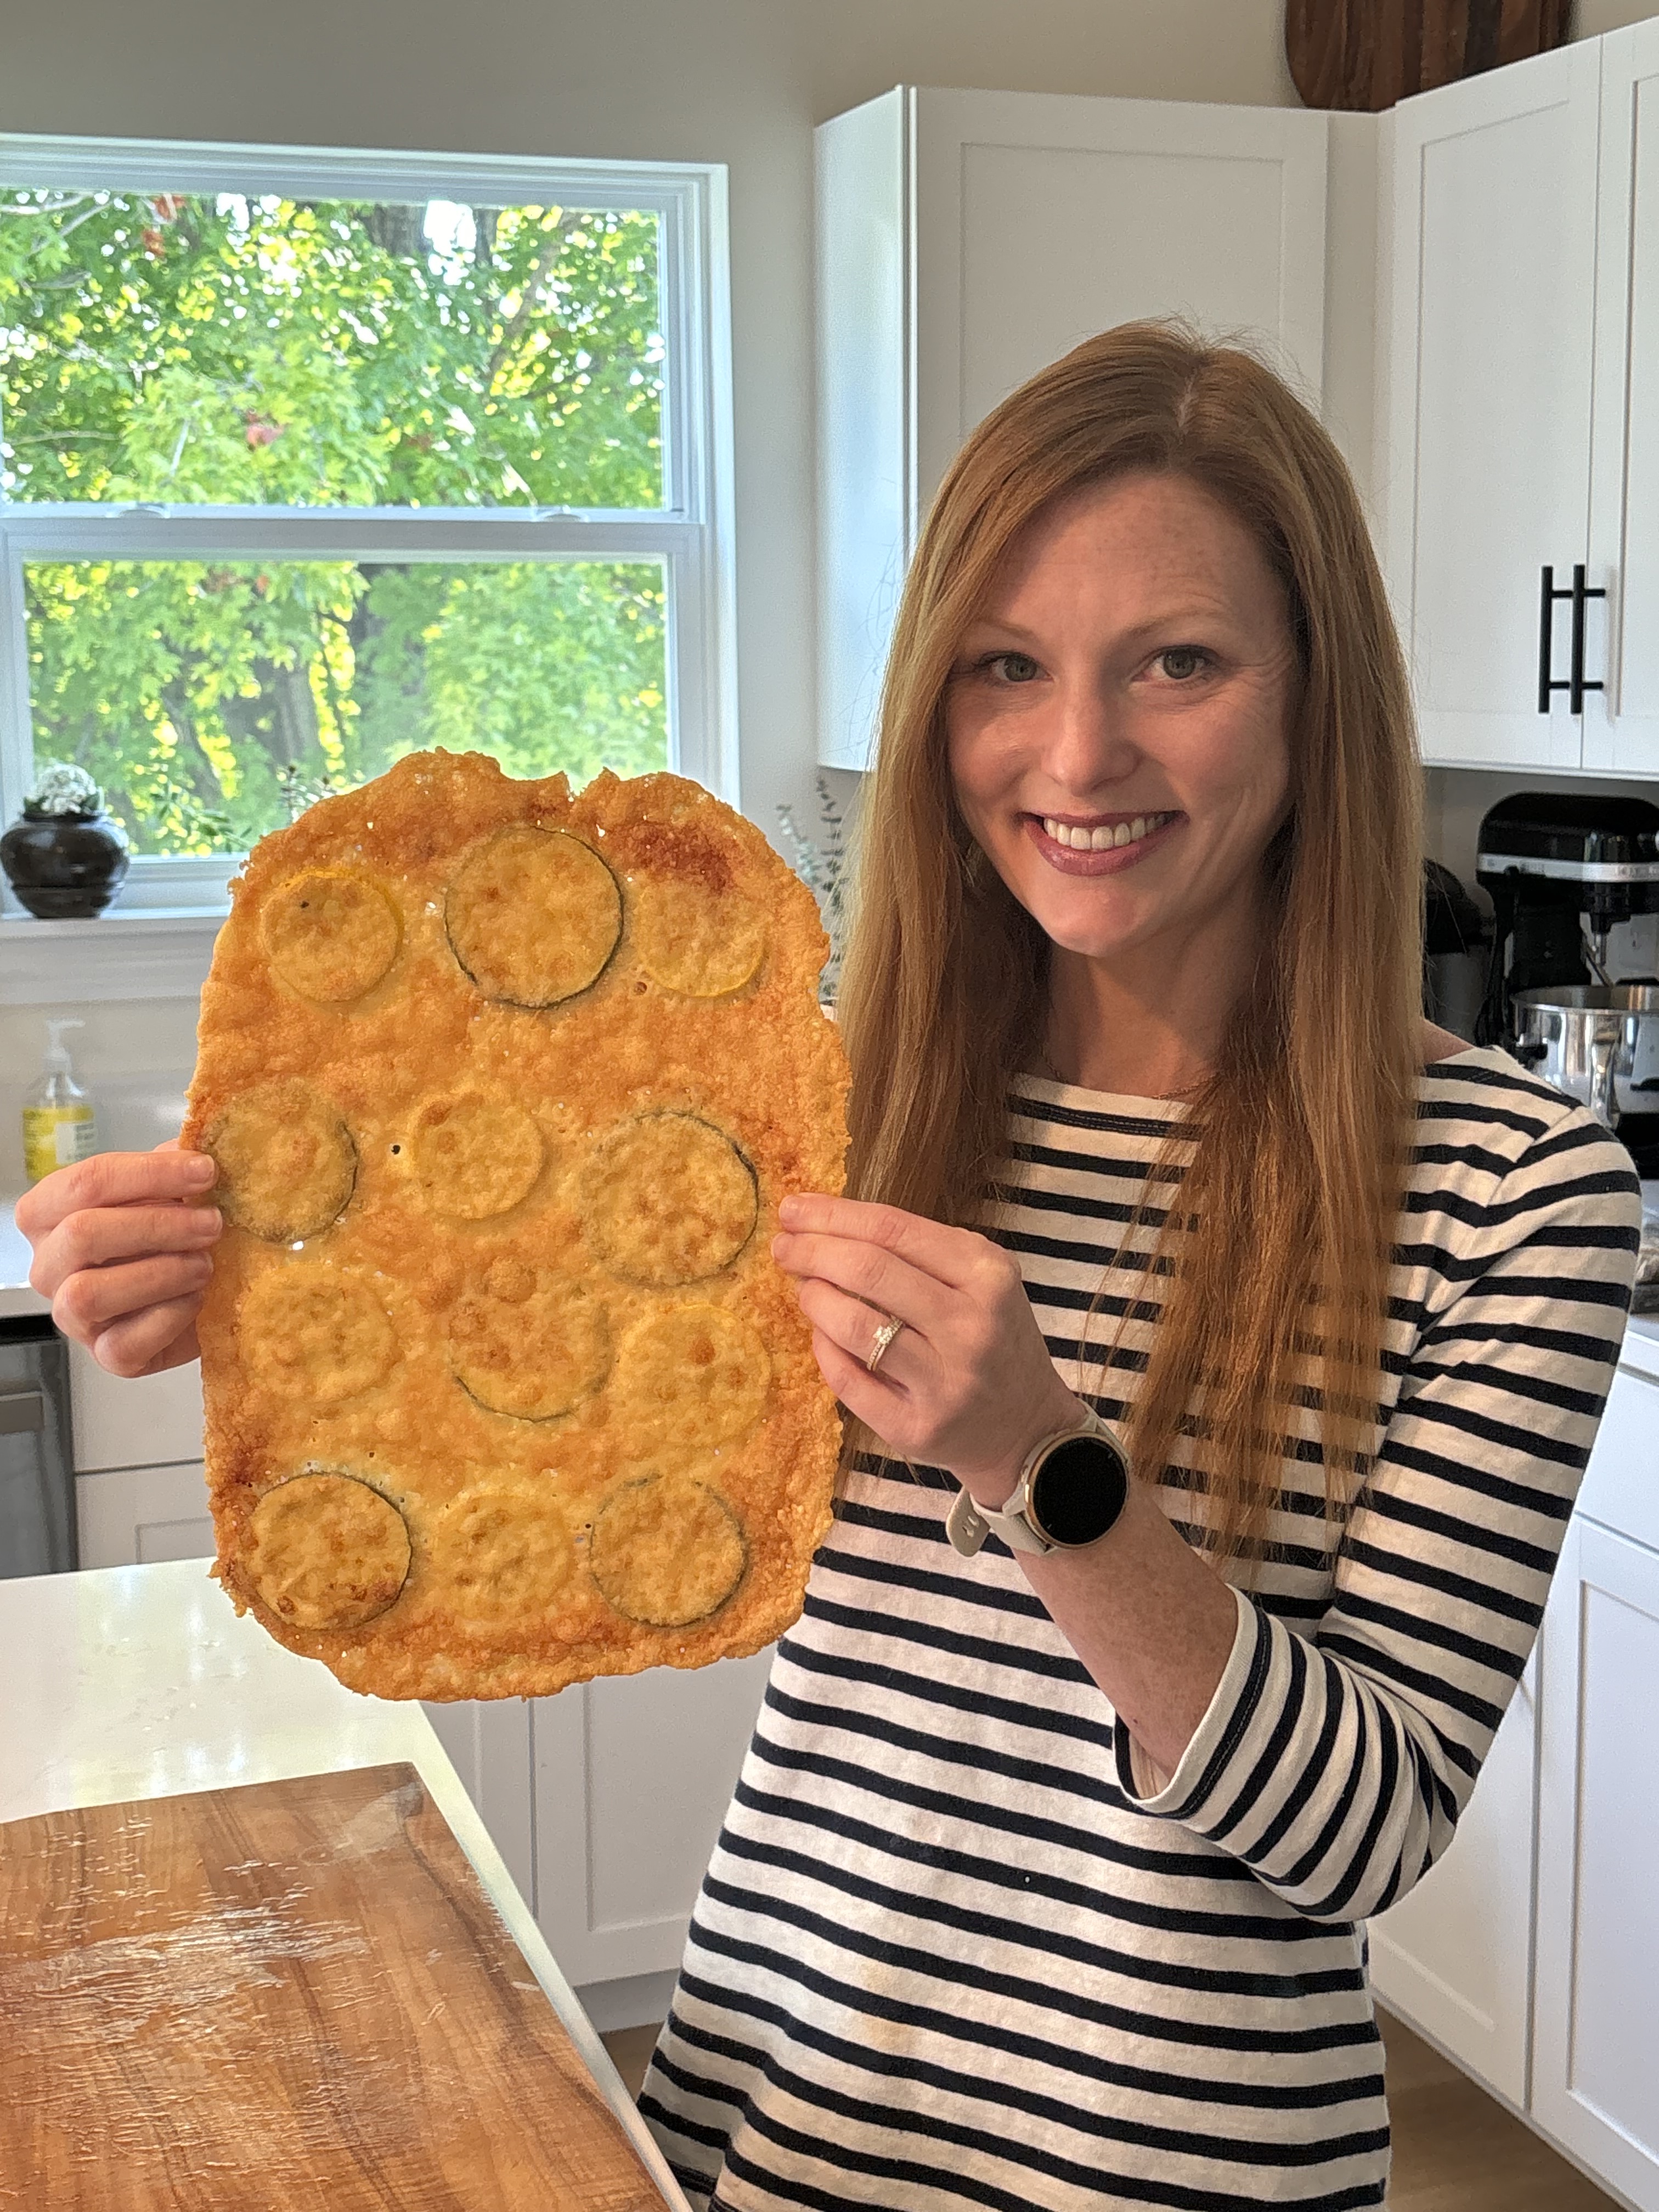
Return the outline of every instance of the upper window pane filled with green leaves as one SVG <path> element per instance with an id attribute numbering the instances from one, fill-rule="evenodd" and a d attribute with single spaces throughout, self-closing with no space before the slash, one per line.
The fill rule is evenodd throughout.
<path id="1" fill-rule="evenodd" d="M 657 217 L 0 192 L 0 491 L 661 507 Z"/>

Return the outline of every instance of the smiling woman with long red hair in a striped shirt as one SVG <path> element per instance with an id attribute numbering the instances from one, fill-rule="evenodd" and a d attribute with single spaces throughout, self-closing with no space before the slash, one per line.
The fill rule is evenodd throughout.
<path id="1" fill-rule="evenodd" d="M 1126 327 L 975 431 L 863 841 L 854 1197 L 774 1250 L 876 1449 L 644 2110 L 726 2212 L 1378 2205 L 1360 1922 L 1531 1650 L 1639 1197 L 1420 1018 L 1400 655 L 1265 369 Z M 192 1349 L 190 1172 L 20 1208 L 119 1371 Z"/>

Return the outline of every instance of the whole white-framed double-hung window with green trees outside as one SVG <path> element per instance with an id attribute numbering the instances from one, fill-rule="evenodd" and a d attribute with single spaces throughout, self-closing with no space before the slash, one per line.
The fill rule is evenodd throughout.
<path id="1" fill-rule="evenodd" d="M 0 799 L 124 909 L 422 745 L 737 799 L 723 173 L 0 137 Z"/>

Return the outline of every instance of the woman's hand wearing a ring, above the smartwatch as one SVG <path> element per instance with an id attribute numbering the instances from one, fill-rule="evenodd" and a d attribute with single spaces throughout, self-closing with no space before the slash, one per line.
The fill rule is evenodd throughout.
<path id="1" fill-rule="evenodd" d="M 801 1285 L 836 1398 L 898 1458 L 949 1467 L 980 1504 L 1000 1506 L 1031 1447 L 1082 1418 L 1013 1259 L 896 1206 L 792 1197 L 779 1219 L 772 1256 Z M 905 1327 L 872 1376 L 887 1314 Z"/>

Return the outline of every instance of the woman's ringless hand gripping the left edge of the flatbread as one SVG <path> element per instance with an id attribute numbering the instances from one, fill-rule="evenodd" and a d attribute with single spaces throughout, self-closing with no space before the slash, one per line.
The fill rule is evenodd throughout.
<path id="1" fill-rule="evenodd" d="M 197 1312 L 223 1228 L 199 1201 L 206 1152 L 93 1152 L 18 1199 L 35 1252 L 29 1281 L 51 1318 L 115 1376 L 153 1376 L 197 1356 Z"/>

